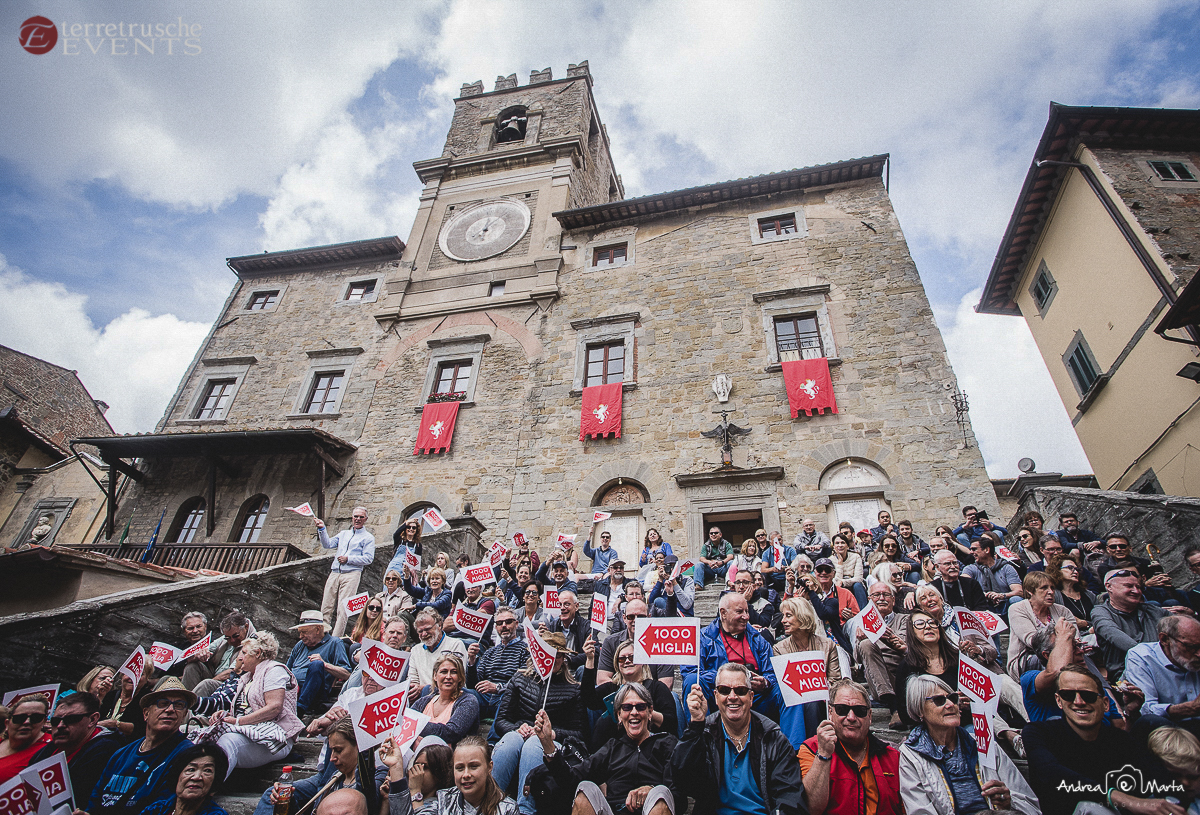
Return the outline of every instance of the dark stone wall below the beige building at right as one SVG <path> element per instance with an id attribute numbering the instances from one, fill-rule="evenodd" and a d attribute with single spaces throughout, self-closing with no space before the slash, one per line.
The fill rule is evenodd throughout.
<path id="1" fill-rule="evenodd" d="M 1046 529 L 1056 529 L 1058 514 L 1070 511 L 1079 516 L 1080 527 L 1096 532 L 1102 539 L 1109 533 L 1123 532 L 1129 535 L 1133 553 L 1138 557 L 1147 557 L 1147 544 L 1157 547 L 1158 561 L 1177 588 L 1195 582 L 1195 575 L 1184 561 L 1184 552 L 1189 546 L 1200 546 L 1198 498 L 1036 487 L 1021 496 L 1020 508 L 1009 520 L 1009 528 L 1013 528 L 1019 515 L 1030 510 L 1042 513 Z"/>

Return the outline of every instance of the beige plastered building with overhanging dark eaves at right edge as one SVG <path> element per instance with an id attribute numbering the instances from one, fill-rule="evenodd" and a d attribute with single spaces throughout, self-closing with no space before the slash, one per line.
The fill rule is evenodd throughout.
<path id="1" fill-rule="evenodd" d="M 1104 490 L 1200 496 L 1198 166 L 1200 110 L 1051 104 L 977 307 L 1025 317 Z"/>

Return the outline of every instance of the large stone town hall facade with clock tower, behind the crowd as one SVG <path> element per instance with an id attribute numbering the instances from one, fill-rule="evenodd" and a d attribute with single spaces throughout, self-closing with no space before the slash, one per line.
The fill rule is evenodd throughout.
<path id="1" fill-rule="evenodd" d="M 148 535 L 166 510 L 178 535 L 204 499 L 191 540 L 236 540 L 265 497 L 259 540 L 311 547 L 284 508 L 324 501 L 331 525 L 367 507 L 380 539 L 432 505 L 545 549 L 604 507 L 636 558 L 650 527 L 695 553 L 714 522 L 790 540 L 806 516 L 872 526 L 890 508 L 929 534 L 964 504 L 995 510 L 887 156 L 626 199 L 587 64 L 455 104 L 443 155 L 415 164 L 407 244 L 229 260 L 158 431 L 107 448 L 144 474 L 116 528 Z M 589 352 L 623 382 L 619 438 L 580 438 Z M 800 355 L 829 360 L 836 414 L 791 418 L 781 362 Z M 414 455 L 439 392 L 461 400 L 452 444 Z M 750 431 L 724 466 L 702 436 L 722 412 Z"/>

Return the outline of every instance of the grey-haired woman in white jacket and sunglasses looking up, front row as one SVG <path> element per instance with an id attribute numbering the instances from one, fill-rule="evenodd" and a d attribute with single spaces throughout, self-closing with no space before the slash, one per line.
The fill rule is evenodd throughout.
<path id="1" fill-rule="evenodd" d="M 934 676 L 918 675 L 905 693 L 917 726 L 900 747 L 900 797 L 910 813 L 966 815 L 998 809 L 1040 815 L 1037 796 L 1012 760 L 996 751 L 996 768 L 979 761 L 974 737 L 962 727 L 959 694 Z"/>

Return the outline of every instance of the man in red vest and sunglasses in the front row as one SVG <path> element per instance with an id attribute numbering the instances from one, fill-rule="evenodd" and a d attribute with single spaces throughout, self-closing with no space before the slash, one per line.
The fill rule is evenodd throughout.
<path id="1" fill-rule="evenodd" d="M 902 815 L 900 751 L 871 735 L 871 700 L 853 679 L 829 685 L 829 718 L 797 757 L 812 815 Z"/>

